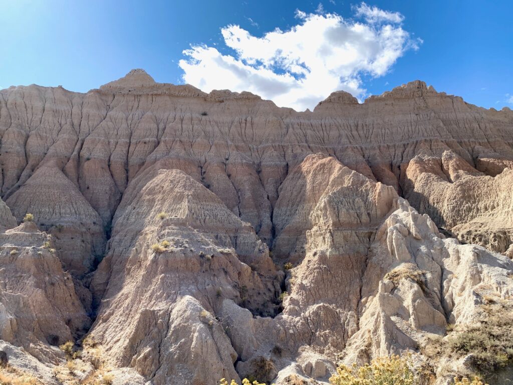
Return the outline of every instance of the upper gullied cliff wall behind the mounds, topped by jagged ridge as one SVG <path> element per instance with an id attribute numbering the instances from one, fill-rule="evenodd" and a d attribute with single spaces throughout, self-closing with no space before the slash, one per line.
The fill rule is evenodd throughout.
<path id="1" fill-rule="evenodd" d="M 451 150 L 490 176 L 513 160 L 509 109 L 468 105 L 420 81 L 363 104 L 334 93 L 313 112 L 247 92 L 155 83 L 142 70 L 85 94 L 32 85 L 0 95 L 4 199 L 53 162 L 107 230 L 127 184 L 160 159 L 202 178 L 268 245 L 278 188 L 311 153 L 334 156 L 401 194 L 401 170 L 420 153 Z"/>

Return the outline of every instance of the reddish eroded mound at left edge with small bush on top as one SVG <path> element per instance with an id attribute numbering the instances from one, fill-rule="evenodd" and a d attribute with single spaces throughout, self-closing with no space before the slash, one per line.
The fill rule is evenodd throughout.
<path id="1" fill-rule="evenodd" d="M 9 222 L 2 224 L 10 227 Z M 32 222 L 0 233 L 0 339 L 13 345 L 10 355 L 28 353 L 46 365 L 62 359 L 57 345 L 74 340 L 90 325 L 72 277 L 51 246 L 51 238 Z M 16 360 L 9 362 L 16 365 Z"/>

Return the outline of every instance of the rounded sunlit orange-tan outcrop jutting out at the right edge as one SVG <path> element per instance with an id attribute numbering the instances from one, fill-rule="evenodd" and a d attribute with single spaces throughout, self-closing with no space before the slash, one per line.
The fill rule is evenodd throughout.
<path id="1" fill-rule="evenodd" d="M 513 244 L 512 185 L 513 169 L 484 175 L 452 151 L 441 158 L 416 156 L 404 183 L 408 201 L 438 226 L 498 253 Z"/>

